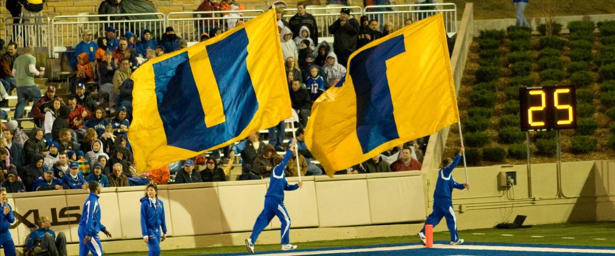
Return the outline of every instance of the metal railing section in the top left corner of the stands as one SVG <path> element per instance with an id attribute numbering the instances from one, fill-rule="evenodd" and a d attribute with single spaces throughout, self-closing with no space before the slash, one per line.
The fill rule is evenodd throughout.
<path id="1" fill-rule="evenodd" d="M 49 24 L 49 17 L 46 16 L 4 18 L 6 42 L 15 42 L 18 47 L 49 47 Z"/>

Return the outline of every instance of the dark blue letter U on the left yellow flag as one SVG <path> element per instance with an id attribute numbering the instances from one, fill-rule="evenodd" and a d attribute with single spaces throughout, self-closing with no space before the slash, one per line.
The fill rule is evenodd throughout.
<path id="1" fill-rule="evenodd" d="M 153 65 L 157 107 L 168 145 L 196 152 L 210 149 L 239 136 L 252 121 L 258 101 L 246 64 L 247 46 L 245 29 L 207 46 L 216 79 L 212 82 L 218 85 L 226 118 L 212 127 L 205 125 L 188 52 Z"/>

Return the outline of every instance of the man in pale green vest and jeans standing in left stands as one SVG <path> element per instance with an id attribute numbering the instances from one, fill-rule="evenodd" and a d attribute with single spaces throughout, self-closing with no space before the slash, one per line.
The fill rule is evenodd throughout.
<path id="1" fill-rule="evenodd" d="M 34 47 L 26 46 L 23 54 L 15 59 L 13 65 L 13 75 L 17 80 L 17 106 L 15 106 L 15 118 L 23 117 L 23 108 L 29 100 L 38 101 L 41 99 L 41 90 L 36 87 L 34 77 L 45 76 L 45 71 L 39 72 L 36 69 L 36 57 L 34 57 Z"/>

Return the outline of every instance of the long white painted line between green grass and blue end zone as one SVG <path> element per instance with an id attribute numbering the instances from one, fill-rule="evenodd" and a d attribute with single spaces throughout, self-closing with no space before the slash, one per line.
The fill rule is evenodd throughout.
<path id="1" fill-rule="evenodd" d="M 408 250 L 421 249 L 424 246 L 392 246 L 392 247 L 376 247 L 365 249 L 341 249 L 341 250 L 313 250 L 310 252 L 287 252 L 282 254 L 261 254 L 275 256 L 291 256 L 291 255 L 318 255 L 318 254 L 351 254 L 353 252 L 379 252 L 386 250 Z M 615 254 L 613 249 L 569 249 L 569 248 L 546 248 L 546 247 L 522 247 L 522 246 L 470 246 L 450 244 L 434 244 L 434 249 L 465 249 L 465 250 L 513 250 L 515 252 L 573 252 L 584 254 Z"/>

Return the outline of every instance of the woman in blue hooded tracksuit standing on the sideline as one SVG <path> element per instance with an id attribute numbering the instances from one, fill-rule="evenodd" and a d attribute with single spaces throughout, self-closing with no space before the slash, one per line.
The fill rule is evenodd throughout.
<path id="1" fill-rule="evenodd" d="M 148 244 L 148 255 L 160 255 L 160 242 L 167 238 L 167 224 L 164 221 L 164 206 L 162 200 L 158 199 L 156 184 L 149 184 L 145 188 L 145 197 L 141 198 L 141 235 L 143 241 Z"/>

